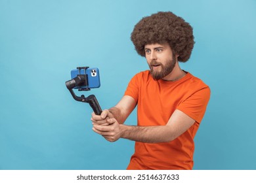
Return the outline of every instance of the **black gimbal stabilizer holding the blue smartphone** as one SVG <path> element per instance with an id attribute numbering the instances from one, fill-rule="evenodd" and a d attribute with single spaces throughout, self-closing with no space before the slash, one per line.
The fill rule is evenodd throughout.
<path id="1" fill-rule="evenodd" d="M 86 70 L 87 68 L 89 68 L 89 67 L 77 67 L 77 69 L 79 69 L 79 71 L 80 71 L 80 69 Z M 100 108 L 100 105 L 98 104 L 98 101 L 97 101 L 95 95 L 89 95 L 88 97 L 85 97 L 85 95 L 81 95 L 81 97 L 78 97 L 77 95 L 75 95 L 75 93 L 73 91 L 73 88 L 75 88 L 77 86 L 88 86 L 88 75 L 87 74 L 77 75 L 72 80 L 66 81 L 66 87 L 68 88 L 72 97 L 76 101 L 80 101 L 83 103 L 89 103 L 91 108 L 93 108 L 93 111 L 95 112 L 95 114 L 100 115 L 102 112 L 102 109 Z M 79 88 L 79 91 L 88 91 L 88 90 L 90 90 L 90 88 Z"/>

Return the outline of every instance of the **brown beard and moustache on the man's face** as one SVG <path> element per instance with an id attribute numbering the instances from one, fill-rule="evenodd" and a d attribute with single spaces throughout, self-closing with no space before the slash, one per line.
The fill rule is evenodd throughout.
<path id="1" fill-rule="evenodd" d="M 169 73 L 171 73 L 171 71 L 173 71 L 175 64 L 176 64 L 175 56 L 173 56 L 173 59 L 167 60 L 166 65 L 163 65 L 162 63 L 160 63 L 156 60 L 153 60 L 149 64 L 150 74 L 152 75 L 154 80 L 160 80 L 161 78 L 164 78 L 165 76 L 169 75 Z M 153 65 L 160 65 L 159 67 L 161 67 L 161 70 L 154 71 Z"/>

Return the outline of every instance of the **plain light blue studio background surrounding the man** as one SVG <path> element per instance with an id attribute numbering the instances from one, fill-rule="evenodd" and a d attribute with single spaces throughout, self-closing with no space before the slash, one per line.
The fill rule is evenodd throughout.
<path id="1" fill-rule="evenodd" d="M 182 69 L 211 88 L 194 169 L 256 169 L 253 0 L 0 0 L 0 169 L 125 169 L 134 142 L 94 133 L 91 108 L 64 82 L 77 66 L 98 67 L 101 87 L 83 94 L 116 105 L 131 77 L 148 69 L 130 41 L 134 25 L 169 10 L 194 27 Z M 136 119 L 135 111 L 126 123 Z"/>

